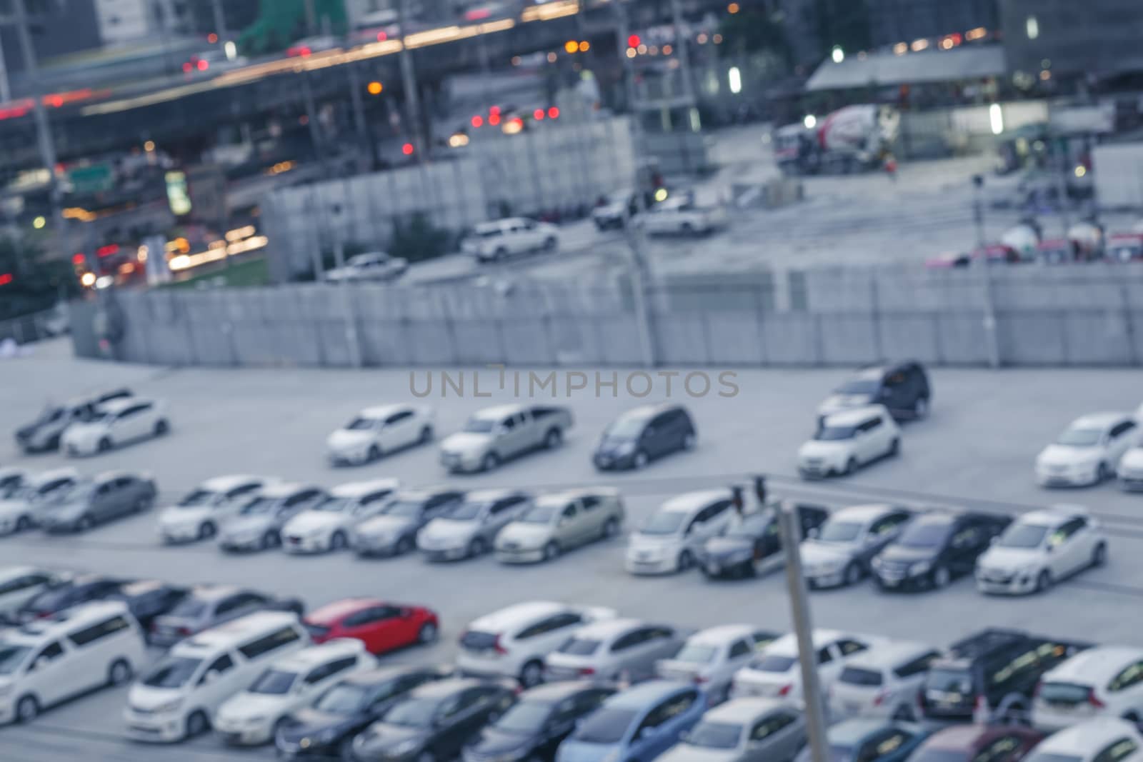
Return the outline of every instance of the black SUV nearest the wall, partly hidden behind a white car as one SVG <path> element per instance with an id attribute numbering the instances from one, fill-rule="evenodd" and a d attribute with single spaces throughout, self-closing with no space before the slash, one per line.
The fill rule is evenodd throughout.
<path id="1" fill-rule="evenodd" d="M 817 408 L 821 423 L 831 412 L 866 404 L 884 404 L 897 420 L 924 418 L 933 402 L 928 374 L 919 362 L 895 362 L 862 368 L 833 390 Z"/>

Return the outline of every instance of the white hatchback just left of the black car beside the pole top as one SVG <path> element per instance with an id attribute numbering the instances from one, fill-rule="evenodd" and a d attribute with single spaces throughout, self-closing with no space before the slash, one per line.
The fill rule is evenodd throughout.
<path id="1" fill-rule="evenodd" d="M 631 532 L 624 562 L 628 572 L 655 575 L 689 569 L 701 556 L 703 544 L 730 522 L 732 505 L 726 489 L 672 497 Z"/>

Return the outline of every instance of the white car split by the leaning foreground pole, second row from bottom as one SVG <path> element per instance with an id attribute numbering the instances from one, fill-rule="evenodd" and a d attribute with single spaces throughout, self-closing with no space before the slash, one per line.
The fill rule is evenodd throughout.
<path id="1" fill-rule="evenodd" d="M 884 642 L 866 635 L 850 635 L 836 629 L 815 629 L 814 650 L 817 651 L 817 680 L 822 693 L 829 692 L 846 663 Z M 730 698 L 765 696 L 785 700 L 802 698 L 801 668 L 798 664 L 798 639 L 783 635 L 757 653 L 750 663 L 734 673 Z"/>

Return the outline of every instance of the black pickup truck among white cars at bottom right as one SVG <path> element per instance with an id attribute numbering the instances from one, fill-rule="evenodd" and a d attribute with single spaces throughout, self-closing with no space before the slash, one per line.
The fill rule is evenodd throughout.
<path id="1" fill-rule="evenodd" d="M 1018 629 L 982 629 L 929 665 L 921 711 L 930 720 L 1026 722 L 1040 676 L 1086 648 Z"/>

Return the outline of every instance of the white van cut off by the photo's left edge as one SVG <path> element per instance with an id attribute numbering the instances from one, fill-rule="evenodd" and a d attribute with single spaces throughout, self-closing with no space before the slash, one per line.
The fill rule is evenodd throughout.
<path id="1" fill-rule="evenodd" d="M 143 631 L 121 601 L 0 632 L 0 723 L 27 722 L 73 696 L 125 683 L 145 659 Z"/>

